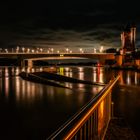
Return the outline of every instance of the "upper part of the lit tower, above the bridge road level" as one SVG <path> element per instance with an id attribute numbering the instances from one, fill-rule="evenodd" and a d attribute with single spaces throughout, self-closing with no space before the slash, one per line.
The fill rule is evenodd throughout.
<path id="1" fill-rule="evenodd" d="M 121 33 L 121 43 L 123 54 L 127 52 L 132 53 L 135 51 L 136 40 L 136 26 L 133 24 L 127 24 L 124 31 Z"/>

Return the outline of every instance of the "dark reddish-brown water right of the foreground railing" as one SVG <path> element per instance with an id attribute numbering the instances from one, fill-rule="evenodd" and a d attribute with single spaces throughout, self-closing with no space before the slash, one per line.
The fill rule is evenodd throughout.
<path id="1" fill-rule="evenodd" d="M 112 93 L 114 115 L 123 117 L 140 139 L 140 73 L 135 71 L 118 73 L 121 77 Z"/>

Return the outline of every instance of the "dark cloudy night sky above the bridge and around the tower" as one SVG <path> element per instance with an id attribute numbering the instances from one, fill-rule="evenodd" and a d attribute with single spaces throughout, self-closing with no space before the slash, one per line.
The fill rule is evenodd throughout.
<path id="1" fill-rule="evenodd" d="M 137 27 L 139 47 L 140 8 L 127 0 L 46 0 L 0 4 L 0 46 L 120 47 L 120 33 L 127 23 Z M 59 46 L 59 47 L 60 47 Z"/>

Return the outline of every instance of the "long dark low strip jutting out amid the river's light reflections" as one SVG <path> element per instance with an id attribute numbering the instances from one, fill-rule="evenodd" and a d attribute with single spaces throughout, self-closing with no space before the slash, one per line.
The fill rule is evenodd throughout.
<path id="1" fill-rule="evenodd" d="M 34 72 L 34 73 L 21 72 L 19 76 L 22 77 L 24 80 L 63 88 L 68 88 L 65 86 L 65 82 L 105 86 L 104 83 L 79 80 L 49 72 Z"/>

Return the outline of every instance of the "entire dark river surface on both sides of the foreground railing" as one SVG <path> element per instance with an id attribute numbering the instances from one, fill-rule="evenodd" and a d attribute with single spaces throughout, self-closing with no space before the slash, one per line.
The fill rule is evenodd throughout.
<path id="1" fill-rule="evenodd" d="M 20 71 L 43 68 L 0 68 L 0 139 L 44 140 L 70 119 L 103 88 L 65 83 L 58 88 L 21 79 Z M 113 89 L 114 115 L 126 119 L 140 132 L 140 73 L 112 71 L 100 67 L 59 67 L 59 74 L 92 82 L 107 83 L 113 75 L 121 78 Z"/>

